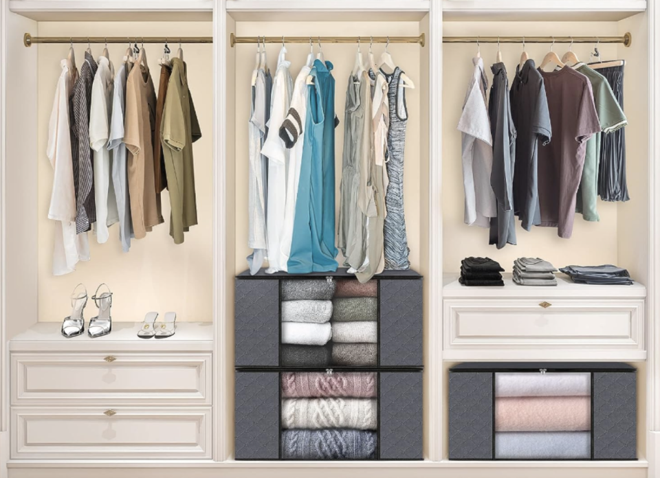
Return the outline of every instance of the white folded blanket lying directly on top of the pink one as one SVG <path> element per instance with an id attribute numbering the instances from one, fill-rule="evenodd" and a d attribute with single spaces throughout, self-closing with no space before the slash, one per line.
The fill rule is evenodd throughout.
<path id="1" fill-rule="evenodd" d="M 591 374 L 497 372 L 496 397 L 591 396 Z"/>

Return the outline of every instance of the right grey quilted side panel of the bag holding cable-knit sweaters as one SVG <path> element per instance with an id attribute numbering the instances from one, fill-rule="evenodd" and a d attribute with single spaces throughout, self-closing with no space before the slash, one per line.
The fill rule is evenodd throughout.
<path id="1" fill-rule="evenodd" d="M 380 373 L 381 459 L 422 459 L 422 374 Z"/>

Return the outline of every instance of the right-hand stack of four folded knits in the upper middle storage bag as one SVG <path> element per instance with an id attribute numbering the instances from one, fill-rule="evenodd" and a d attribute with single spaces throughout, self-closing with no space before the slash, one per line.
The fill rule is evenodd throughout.
<path id="1" fill-rule="evenodd" d="M 332 299 L 333 365 L 377 365 L 378 288 L 375 281 L 338 281 Z"/>

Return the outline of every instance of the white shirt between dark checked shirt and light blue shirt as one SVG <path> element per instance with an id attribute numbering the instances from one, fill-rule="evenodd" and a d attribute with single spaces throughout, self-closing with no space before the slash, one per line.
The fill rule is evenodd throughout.
<path id="1" fill-rule="evenodd" d="M 96 239 L 99 244 L 108 240 L 108 226 L 119 221 L 115 190 L 111 185 L 110 151 L 107 148 L 110 136 L 110 114 L 112 105 L 113 77 L 112 62 L 100 56 L 98 69 L 91 86 L 89 111 L 89 146 L 94 152 L 94 194 L 96 198 Z"/>

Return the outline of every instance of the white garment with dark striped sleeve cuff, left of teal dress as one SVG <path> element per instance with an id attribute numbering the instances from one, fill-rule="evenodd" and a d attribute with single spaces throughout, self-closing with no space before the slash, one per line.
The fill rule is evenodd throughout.
<path id="1" fill-rule="evenodd" d="M 289 148 L 289 166 L 287 168 L 287 199 L 284 212 L 284 224 L 282 226 L 281 264 L 288 269 L 291 243 L 294 235 L 294 219 L 296 216 L 296 200 L 298 197 L 298 183 L 300 181 L 300 163 L 303 160 L 303 148 L 305 147 L 304 128 L 307 119 L 307 76 L 311 67 L 305 65 L 300 69 L 294 84 L 294 92 L 291 106 L 287 117 L 282 122 L 279 136 L 286 148 Z"/>

